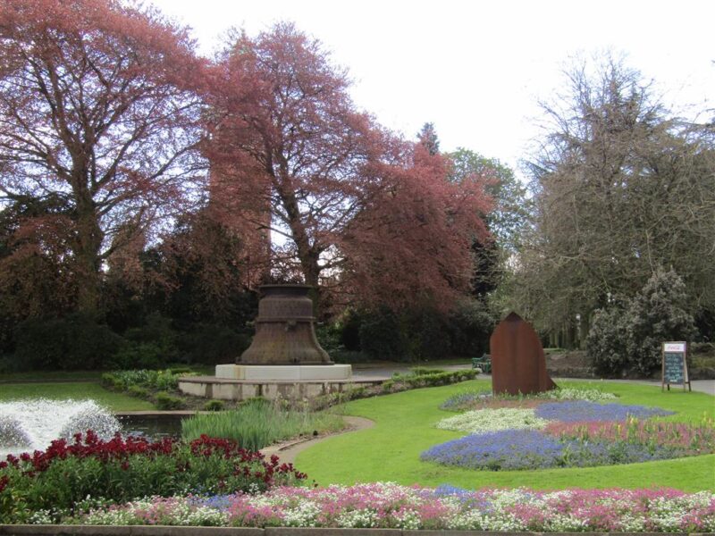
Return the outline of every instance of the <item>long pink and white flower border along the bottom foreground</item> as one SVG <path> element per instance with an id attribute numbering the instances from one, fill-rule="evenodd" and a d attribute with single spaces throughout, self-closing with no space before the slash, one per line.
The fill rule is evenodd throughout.
<path id="1" fill-rule="evenodd" d="M 715 495 L 677 490 L 466 491 L 392 483 L 261 495 L 147 498 L 65 523 L 370 527 L 533 532 L 709 532 Z"/>

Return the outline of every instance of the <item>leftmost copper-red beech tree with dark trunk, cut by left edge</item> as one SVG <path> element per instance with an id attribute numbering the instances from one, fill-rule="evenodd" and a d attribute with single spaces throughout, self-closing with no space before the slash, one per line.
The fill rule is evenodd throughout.
<path id="1" fill-rule="evenodd" d="M 80 311 L 97 310 L 103 263 L 133 231 L 198 195 L 201 69 L 185 30 L 157 13 L 0 0 L 0 195 L 66 205 Z"/>

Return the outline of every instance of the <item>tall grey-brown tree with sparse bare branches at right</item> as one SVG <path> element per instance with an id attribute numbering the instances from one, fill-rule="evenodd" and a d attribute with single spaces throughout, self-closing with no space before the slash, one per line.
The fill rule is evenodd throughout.
<path id="1" fill-rule="evenodd" d="M 543 327 L 632 297 L 661 267 L 713 310 L 715 138 L 678 121 L 636 71 L 607 58 L 568 72 L 568 96 L 531 163 L 535 220 L 517 301 Z"/>

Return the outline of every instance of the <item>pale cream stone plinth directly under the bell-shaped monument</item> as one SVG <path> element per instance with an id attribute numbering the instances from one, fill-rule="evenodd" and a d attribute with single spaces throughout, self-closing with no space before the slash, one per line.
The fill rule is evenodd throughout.
<path id="1" fill-rule="evenodd" d="M 217 364 L 216 378 L 245 381 L 349 380 L 349 364 Z"/>

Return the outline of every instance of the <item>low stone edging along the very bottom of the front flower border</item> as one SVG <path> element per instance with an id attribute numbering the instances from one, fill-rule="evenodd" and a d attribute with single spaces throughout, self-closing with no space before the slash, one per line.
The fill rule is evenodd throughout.
<path id="1" fill-rule="evenodd" d="M 2 536 L 517 536 L 546 534 L 574 536 L 576 532 L 491 532 L 431 531 L 407 529 L 332 529 L 316 527 L 181 527 L 170 525 L 7 525 L 0 524 Z M 715 536 L 715 532 L 577 532 L 599 536 Z"/>

